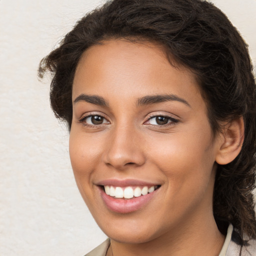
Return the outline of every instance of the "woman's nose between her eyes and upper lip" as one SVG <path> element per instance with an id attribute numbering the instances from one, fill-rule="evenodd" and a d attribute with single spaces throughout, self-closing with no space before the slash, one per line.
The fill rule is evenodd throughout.
<path id="1" fill-rule="evenodd" d="M 122 126 L 116 127 L 109 134 L 104 162 L 115 169 L 124 170 L 129 167 L 141 166 L 145 162 L 143 141 L 135 129 Z"/>

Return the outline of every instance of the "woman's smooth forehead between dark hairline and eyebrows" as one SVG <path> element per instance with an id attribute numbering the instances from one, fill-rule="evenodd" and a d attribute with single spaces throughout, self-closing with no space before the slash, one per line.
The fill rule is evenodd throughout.
<path id="1" fill-rule="evenodd" d="M 163 48 L 150 42 L 108 40 L 89 47 L 81 56 L 73 81 L 73 99 L 80 93 L 142 97 L 177 94 L 202 100 L 195 75 L 174 67 Z"/>

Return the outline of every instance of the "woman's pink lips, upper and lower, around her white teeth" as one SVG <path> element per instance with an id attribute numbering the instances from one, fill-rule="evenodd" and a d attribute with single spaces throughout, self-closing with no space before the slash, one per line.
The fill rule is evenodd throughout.
<path id="1" fill-rule="evenodd" d="M 141 195 L 139 197 L 132 197 L 130 199 L 125 199 L 125 198 L 114 198 L 110 195 L 107 195 L 104 192 L 103 185 L 113 185 L 113 186 L 152 186 L 152 185 L 157 185 L 156 183 L 151 183 L 151 182 L 145 182 L 141 180 L 134 180 L 134 179 L 126 179 L 126 180 L 116 180 L 116 179 L 107 179 L 107 180 L 102 180 L 98 183 L 98 189 L 100 196 L 106 205 L 106 207 L 114 211 L 116 213 L 130 213 L 134 212 L 136 210 L 141 209 L 142 207 L 146 206 L 149 201 L 153 200 L 153 198 L 156 196 L 158 189 L 154 190 L 151 193 Z"/>

